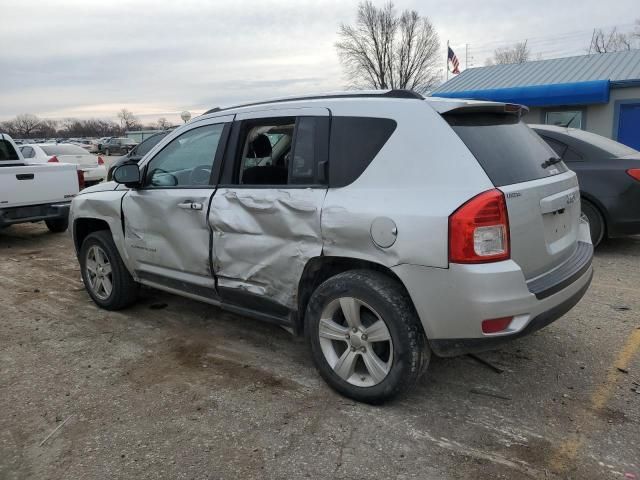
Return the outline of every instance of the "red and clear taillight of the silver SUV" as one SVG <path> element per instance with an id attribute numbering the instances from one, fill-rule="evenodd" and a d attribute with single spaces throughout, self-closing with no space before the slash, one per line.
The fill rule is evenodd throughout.
<path id="1" fill-rule="evenodd" d="M 497 262 L 509 256 L 509 216 L 500 190 L 481 193 L 451 214 L 450 262 Z"/>

